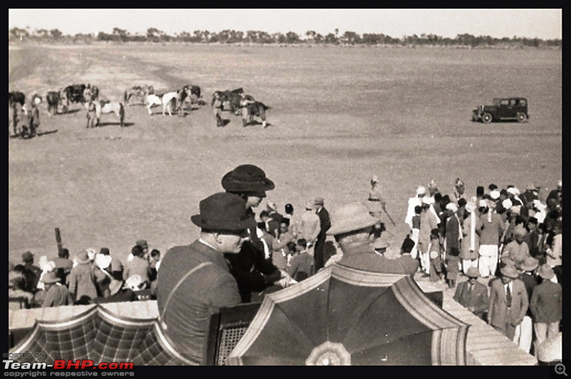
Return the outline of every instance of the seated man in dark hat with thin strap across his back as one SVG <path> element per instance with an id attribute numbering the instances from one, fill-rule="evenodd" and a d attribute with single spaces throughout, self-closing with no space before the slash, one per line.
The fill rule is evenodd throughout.
<path id="1" fill-rule="evenodd" d="M 211 314 L 240 303 L 224 254 L 241 251 L 251 226 L 244 200 L 234 194 L 213 194 L 201 200 L 199 208 L 191 221 L 201 228 L 200 238 L 168 250 L 156 288 L 163 333 L 191 365 L 204 363 Z"/>

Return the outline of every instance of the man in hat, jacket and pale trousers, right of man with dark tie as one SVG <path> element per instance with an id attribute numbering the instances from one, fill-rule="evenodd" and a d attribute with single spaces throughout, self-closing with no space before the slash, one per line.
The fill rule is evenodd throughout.
<path id="1" fill-rule="evenodd" d="M 560 284 L 551 281 L 555 276 L 553 269 L 544 264 L 537 270 L 537 276 L 541 278 L 541 284 L 533 289 L 530 301 L 536 351 L 546 338 L 559 333 L 562 318 L 562 288 Z"/>

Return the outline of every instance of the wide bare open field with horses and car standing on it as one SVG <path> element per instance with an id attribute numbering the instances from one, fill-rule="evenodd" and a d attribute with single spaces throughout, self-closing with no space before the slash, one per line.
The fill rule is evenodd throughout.
<path id="1" fill-rule="evenodd" d="M 9 90 L 45 95 L 91 83 L 121 100 L 132 85 L 200 85 L 208 105 L 185 117 L 126 110 L 86 129 L 85 111 L 49 117 L 41 132 L 9 140 L 9 259 L 31 249 L 56 255 L 54 228 L 71 253 L 107 246 L 126 257 L 137 239 L 166 251 L 198 235 L 190 216 L 222 190 L 237 165 L 276 182 L 268 200 L 296 213 L 315 196 L 329 210 L 365 201 L 378 175 L 399 241 L 408 197 L 435 179 L 469 195 L 494 182 L 542 186 L 562 177 L 562 51 L 278 46 L 25 46 L 9 48 Z M 267 129 L 216 128 L 214 90 L 243 87 L 271 107 Z M 492 98 L 526 96 L 528 123 L 470 121 Z M 72 105 L 72 110 L 79 105 Z M 51 132 L 51 133 L 49 133 Z M 265 208 L 261 204 L 258 212 Z"/>

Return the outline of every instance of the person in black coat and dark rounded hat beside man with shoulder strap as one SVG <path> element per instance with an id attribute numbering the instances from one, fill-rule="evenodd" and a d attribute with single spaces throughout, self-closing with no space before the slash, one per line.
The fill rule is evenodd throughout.
<path id="1" fill-rule="evenodd" d="M 273 190 L 276 185 L 256 165 L 236 167 L 222 177 L 221 184 L 226 192 L 241 197 L 245 202 L 249 239 L 243 242 L 238 254 L 226 254 L 226 261 L 238 282 L 242 302 L 249 303 L 253 292 L 260 293 L 287 275 L 266 259 L 263 242 L 256 230 L 256 214 L 252 210 L 266 197 L 266 191 Z"/>

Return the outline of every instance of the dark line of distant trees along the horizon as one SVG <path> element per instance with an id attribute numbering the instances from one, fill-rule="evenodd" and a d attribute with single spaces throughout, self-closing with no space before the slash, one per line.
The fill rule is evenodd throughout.
<path id="1" fill-rule="evenodd" d="M 113 28 L 111 33 L 103 31 L 95 33 L 77 33 L 74 36 L 64 35 L 59 29 L 11 28 L 8 33 L 9 41 L 36 41 L 40 43 L 92 43 L 103 42 L 186 42 L 186 43 L 261 43 L 261 44 L 307 44 L 307 45 L 388 45 L 388 46 L 498 46 L 498 47 L 562 47 L 561 39 L 543 40 L 541 38 L 526 38 L 513 36 L 512 38 L 495 38 L 492 36 L 473 36 L 469 33 L 458 34 L 455 38 L 437 36 L 435 34 L 413 34 L 393 38 L 383 33 L 355 33 L 345 31 L 322 35 L 315 31 L 307 31 L 305 35 L 298 35 L 293 31 L 288 33 L 267 33 L 265 31 L 234 31 L 223 30 L 219 32 L 196 30 L 193 33 L 181 31 L 174 36 L 168 35 L 157 28 L 148 28 L 145 34 L 130 33 L 125 29 Z"/>

